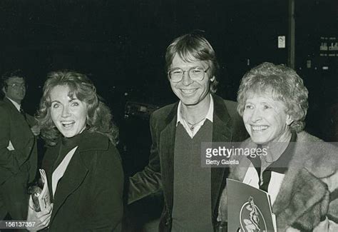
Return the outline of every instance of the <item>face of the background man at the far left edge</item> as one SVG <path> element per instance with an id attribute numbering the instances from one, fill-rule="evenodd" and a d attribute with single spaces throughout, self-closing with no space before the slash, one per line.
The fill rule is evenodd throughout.
<path id="1" fill-rule="evenodd" d="M 26 95 L 25 80 L 22 77 L 11 77 L 6 81 L 6 88 L 3 91 L 7 98 L 21 104 Z"/>

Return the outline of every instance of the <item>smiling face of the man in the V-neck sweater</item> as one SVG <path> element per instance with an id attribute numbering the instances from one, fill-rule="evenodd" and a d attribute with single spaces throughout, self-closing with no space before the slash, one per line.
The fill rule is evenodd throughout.
<path id="1" fill-rule="evenodd" d="M 207 61 L 185 62 L 183 59 L 180 59 L 178 54 L 175 54 L 173 63 L 170 66 L 170 69 L 180 68 L 185 71 L 181 81 L 176 83 L 170 81 L 171 89 L 173 89 L 174 94 L 178 96 L 185 106 L 197 106 L 205 103 L 205 101 L 207 101 L 206 96 L 208 96 L 210 90 L 210 81 L 215 79 L 213 76 L 210 79 L 210 69 L 208 69 L 202 81 L 193 81 L 188 75 L 188 70 L 194 67 L 206 70 L 209 64 Z"/>

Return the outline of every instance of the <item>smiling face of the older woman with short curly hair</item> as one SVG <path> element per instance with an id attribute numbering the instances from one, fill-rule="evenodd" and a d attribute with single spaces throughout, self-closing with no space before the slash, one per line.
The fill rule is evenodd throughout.
<path id="1" fill-rule="evenodd" d="M 243 121 L 252 141 L 264 145 L 285 142 L 292 123 L 292 118 L 285 110 L 285 104 L 272 99 L 270 94 L 250 94 L 245 101 Z"/>

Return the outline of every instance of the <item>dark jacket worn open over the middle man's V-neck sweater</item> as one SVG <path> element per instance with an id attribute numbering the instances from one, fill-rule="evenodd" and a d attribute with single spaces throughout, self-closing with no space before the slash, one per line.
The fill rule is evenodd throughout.
<path id="1" fill-rule="evenodd" d="M 225 101 L 213 95 L 214 112 L 212 141 L 243 141 L 247 133 L 242 118 L 237 114 L 235 102 Z M 165 208 L 160 219 L 160 231 L 171 230 L 173 210 L 173 168 L 175 130 L 178 103 L 164 106 L 150 116 L 150 132 L 153 144 L 150 149 L 148 166 L 130 178 L 128 202 L 137 201 L 150 193 L 163 189 Z M 217 207 L 220 193 L 225 187 L 227 168 L 211 169 L 212 223 L 217 223 Z M 201 209 L 203 210 L 203 209 Z M 208 209 L 206 209 L 208 210 Z"/>

